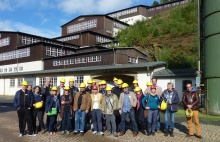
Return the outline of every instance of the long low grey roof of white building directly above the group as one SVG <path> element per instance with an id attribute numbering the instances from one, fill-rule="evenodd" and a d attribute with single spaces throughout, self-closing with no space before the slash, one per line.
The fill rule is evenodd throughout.
<path id="1" fill-rule="evenodd" d="M 42 70 L 42 71 L 29 71 L 29 72 L 19 72 L 19 73 L 4 73 L 0 74 L 0 78 L 10 77 L 10 76 L 20 76 L 20 75 L 35 75 L 35 74 L 52 74 L 52 73 L 77 73 L 82 71 L 115 71 L 122 69 L 145 69 L 148 71 L 150 68 L 155 68 L 159 66 L 165 66 L 165 62 L 146 62 L 139 64 L 116 64 L 116 65 L 103 65 L 103 66 L 86 66 L 78 68 L 65 68 L 65 69 L 53 69 L 53 70 Z"/>

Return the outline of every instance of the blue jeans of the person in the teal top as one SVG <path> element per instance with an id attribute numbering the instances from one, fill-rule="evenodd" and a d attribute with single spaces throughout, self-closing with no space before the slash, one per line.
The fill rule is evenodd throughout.
<path id="1" fill-rule="evenodd" d="M 147 122 L 148 122 L 148 132 L 154 133 L 157 123 L 158 110 L 148 110 Z"/>

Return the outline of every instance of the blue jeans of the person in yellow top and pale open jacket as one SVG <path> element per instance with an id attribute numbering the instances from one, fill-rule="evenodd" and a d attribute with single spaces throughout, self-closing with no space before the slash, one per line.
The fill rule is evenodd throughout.
<path id="1" fill-rule="evenodd" d="M 94 131 L 102 132 L 102 112 L 100 109 L 92 110 L 92 121 Z"/>

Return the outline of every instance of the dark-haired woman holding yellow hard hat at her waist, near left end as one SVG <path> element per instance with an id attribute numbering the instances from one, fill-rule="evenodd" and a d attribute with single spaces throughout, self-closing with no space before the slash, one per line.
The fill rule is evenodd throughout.
<path id="1" fill-rule="evenodd" d="M 41 130 L 41 133 L 43 134 L 45 132 L 44 129 L 44 121 L 43 121 L 43 116 L 44 116 L 44 108 L 43 108 L 43 104 L 44 104 L 44 98 L 43 95 L 41 94 L 41 88 L 40 86 L 35 86 L 34 87 L 34 101 L 33 101 L 33 120 L 32 120 L 32 124 L 33 124 L 33 130 L 35 132 L 35 134 L 38 133 L 38 131 Z M 39 121 L 39 126 L 37 128 L 36 126 L 36 120 L 38 119 Z"/>

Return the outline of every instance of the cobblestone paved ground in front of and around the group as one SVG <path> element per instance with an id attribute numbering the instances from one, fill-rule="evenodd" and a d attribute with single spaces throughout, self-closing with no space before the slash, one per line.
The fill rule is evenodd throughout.
<path id="1" fill-rule="evenodd" d="M 7 101 L 4 101 L 6 99 Z M 5 103 L 6 102 L 6 103 Z M 127 130 L 126 134 L 122 137 L 115 138 L 113 136 L 99 136 L 92 135 L 91 131 L 85 133 L 84 136 L 74 136 L 70 135 L 60 135 L 59 133 L 48 136 L 48 134 L 38 134 L 36 137 L 24 136 L 22 138 L 18 137 L 18 120 L 17 114 L 14 110 L 10 97 L 0 96 L 0 141 L 4 142 L 69 142 L 69 141 L 81 141 L 81 142 L 197 142 L 197 141 L 207 141 L 207 142 L 220 142 L 220 126 L 211 124 L 201 124 L 203 140 L 198 138 L 186 138 L 187 127 L 185 123 L 185 118 L 176 119 L 175 124 L 175 137 L 164 137 L 163 133 L 156 133 L 155 136 L 146 136 L 139 134 L 136 138 L 132 136 L 131 130 Z M 163 122 L 163 121 L 162 121 Z"/>

